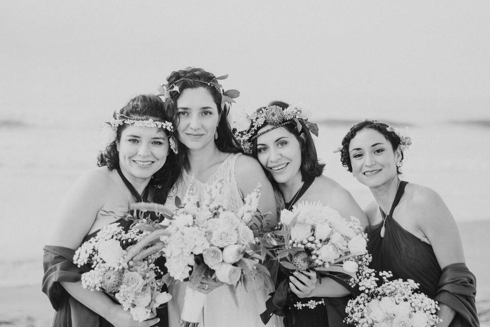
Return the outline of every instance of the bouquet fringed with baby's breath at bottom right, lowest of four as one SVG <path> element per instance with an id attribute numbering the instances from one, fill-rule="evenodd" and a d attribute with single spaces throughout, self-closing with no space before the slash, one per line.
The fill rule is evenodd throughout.
<path id="1" fill-rule="evenodd" d="M 395 279 L 390 272 L 379 273 L 383 284 L 374 270 L 364 272 L 359 289 L 362 293 L 349 301 L 346 322 L 358 327 L 430 327 L 441 320 L 435 314 L 437 302 L 425 294 L 415 292 L 419 288 L 411 279 Z"/>

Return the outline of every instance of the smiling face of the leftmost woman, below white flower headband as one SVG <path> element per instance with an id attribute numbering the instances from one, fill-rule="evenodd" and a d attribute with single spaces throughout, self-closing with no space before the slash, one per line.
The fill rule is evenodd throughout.
<path id="1" fill-rule="evenodd" d="M 119 167 L 131 182 L 149 180 L 165 164 L 168 137 L 161 128 L 127 126 L 117 143 Z"/>

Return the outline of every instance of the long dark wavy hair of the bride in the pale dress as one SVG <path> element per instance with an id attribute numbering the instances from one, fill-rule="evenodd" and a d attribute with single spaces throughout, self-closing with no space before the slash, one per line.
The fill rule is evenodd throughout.
<path id="1" fill-rule="evenodd" d="M 191 79 L 191 80 L 183 80 L 181 79 Z M 218 113 L 220 115 L 217 133 L 218 138 L 215 139 L 216 147 L 222 152 L 229 153 L 237 153 L 243 152 L 240 144 L 238 143 L 235 135 L 233 134 L 230 124 L 228 123 L 228 114 L 230 107 L 229 105 L 225 105 L 225 108 L 221 107 L 222 93 L 213 85 L 217 86 L 216 77 L 203 68 L 192 68 L 187 67 L 177 72 L 172 72 L 167 77 L 168 85 L 176 85 L 179 87 L 179 91 L 170 91 L 170 97 L 167 100 L 170 111 L 174 114 L 174 126 L 179 126 L 179 115 L 177 114 L 177 100 L 179 99 L 182 91 L 186 88 L 199 88 L 204 87 L 209 91 L 211 96 L 213 97 L 214 103 L 218 109 Z M 209 83 L 209 84 L 208 84 Z M 175 133 L 177 135 L 177 133 Z M 178 139 L 178 135 L 177 135 Z M 183 145 L 181 142 L 178 142 L 179 145 L 179 155 L 178 159 L 185 160 L 187 147 Z"/>

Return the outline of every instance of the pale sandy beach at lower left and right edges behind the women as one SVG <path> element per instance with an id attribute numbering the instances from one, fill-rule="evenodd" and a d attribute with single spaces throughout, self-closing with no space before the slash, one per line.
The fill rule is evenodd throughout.
<path id="1" fill-rule="evenodd" d="M 482 327 L 490 327 L 490 221 L 459 223 L 464 253 L 470 270 L 477 277 L 477 309 Z M 41 276 L 39 276 L 39 281 Z M 0 288 L 0 326 L 48 327 L 54 310 L 41 285 Z"/>

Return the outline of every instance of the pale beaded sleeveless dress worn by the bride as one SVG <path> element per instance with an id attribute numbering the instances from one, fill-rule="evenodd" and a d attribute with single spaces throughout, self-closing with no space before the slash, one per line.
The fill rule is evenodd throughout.
<path id="1" fill-rule="evenodd" d="M 243 199 L 235 175 L 235 161 L 241 153 L 230 154 L 217 171 L 205 182 L 194 178 L 196 194 L 204 192 L 206 184 L 212 184 L 218 179 L 224 181 L 224 191 L 227 194 L 227 209 L 236 211 L 242 204 Z M 182 170 L 180 178 L 167 198 L 168 206 L 174 206 L 175 197 L 183 198 L 192 176 Z M 184 304 L 184 294 L 187 282 L 171 285 L 169 292 L 172 299 L 168 302 L 169 326 L 180 326 L 180 314 Z M 204 305 L 203 317 L 199 327 L 253 327 L 264 326 L 259 314 L 265 310 L 265 299 L 267 291 L 258 285 L 257 291 L 247 292 L 240 284 L 236 288 L 227 285 L 220 286 L 207 294 Z M 282 326 L 279 319 L 271 320 L 266 326 Z"/>

